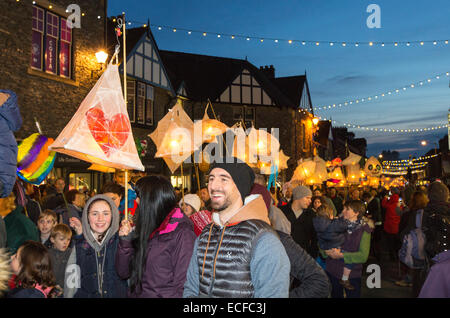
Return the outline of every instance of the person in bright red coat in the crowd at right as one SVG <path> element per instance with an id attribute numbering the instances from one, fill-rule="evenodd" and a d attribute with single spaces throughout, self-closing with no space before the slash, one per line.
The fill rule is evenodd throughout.
<path id="1" fill-rule="evenodd" d="M 400 191 L 398 188 L 391 188 L 391 196 L 384 197 L 381 206 L 386 210 L 384 218 L 384 234 L 388 244 L 391 260 L 398 259 L 397 252 L 400 249 L 401 242 L 398 238 L 398 226 L 401 215 L 398 214 L 400 208 Z"/>

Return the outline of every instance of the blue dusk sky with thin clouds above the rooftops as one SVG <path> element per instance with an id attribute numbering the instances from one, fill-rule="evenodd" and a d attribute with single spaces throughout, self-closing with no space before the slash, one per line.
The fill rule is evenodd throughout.
<path id="1" fill-rule="evenodd" d="M 188 35 L 169 29 L 152 32 L 163 50 L 245 59 L 259 67 L 273 65 L 275 76 L 308 76 L 314 107 L 344 104 L 408 87 L 376 101 L 316 110 L 315 114 L 371 128 L 415 129 L 447 124 L 450 108 L 449 0 L 109 0 L 108 15 L 127 20 L 205 32 L 278 38 L 280 41 Z M 370 4 L 381 8 L 381 28 L 369 28 Z M 135 23 L 130 27 L 142 24 Z M 319 46 L 288 44 L 281 39 L 327 42 L 439 41 L 437 45 L 400 44 Z M 439 79 L 436 75 L 443 74 Z M 220 74 L 218 74 L 220 76 Z M 426 80 L 431 79 L 428 83 Z M 425 80 L 423 86 L 410 88 Z M 401 158 L 421 156 L 447 129 L 418 133 L 385 133 L 353 129 L 367 139 L 367 155 L 397 150 Z M 429 146 L 420 145 L 427 140 Z"/>

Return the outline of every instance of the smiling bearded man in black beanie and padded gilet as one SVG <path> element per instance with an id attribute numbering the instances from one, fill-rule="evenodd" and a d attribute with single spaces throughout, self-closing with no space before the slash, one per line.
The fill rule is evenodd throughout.
<path id="1" fill-rule="evenodd" d="M 289 296 L 289 258 L 271 228 L 261 195 L 249 195 L 255 175 L 236 158 L 211 166 L 213 222 L 194 246 L 183 297 Z"/>

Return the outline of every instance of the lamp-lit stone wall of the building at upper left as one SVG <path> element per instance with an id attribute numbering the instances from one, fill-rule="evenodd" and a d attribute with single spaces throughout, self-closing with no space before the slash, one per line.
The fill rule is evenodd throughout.
<path id="1" fill-rule="evenodd" d="M 37 132 L 56 138 L 101 75 L 95 53 L 104 48 L 105 0 L 36 1 L 58 15 L 69 4 L 78 4 L 85 14 L 81 28 L 73 29 L 72 78 L 63 79 L 31 70 L 31 1 L 0 1 L 0 87 L 18 95 L 23 118 L 18 139 Z M 100 16 L 100 19 L 98 18 Z"/>

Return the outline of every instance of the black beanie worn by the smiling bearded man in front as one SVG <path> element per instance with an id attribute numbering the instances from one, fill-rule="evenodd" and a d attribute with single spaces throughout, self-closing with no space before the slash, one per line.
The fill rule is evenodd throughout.
<path id="1" fill-rule="evenodd" d="M 242 202 L 250 194 L 250 190 L 255 181 L 255 173 L 245 162 L 235 157 L 222 158 L 221 163 L 214 162 L 210 172 L 216 168 L 225 170 L 231 175 L 233 182 L 241 194 Z"/>

